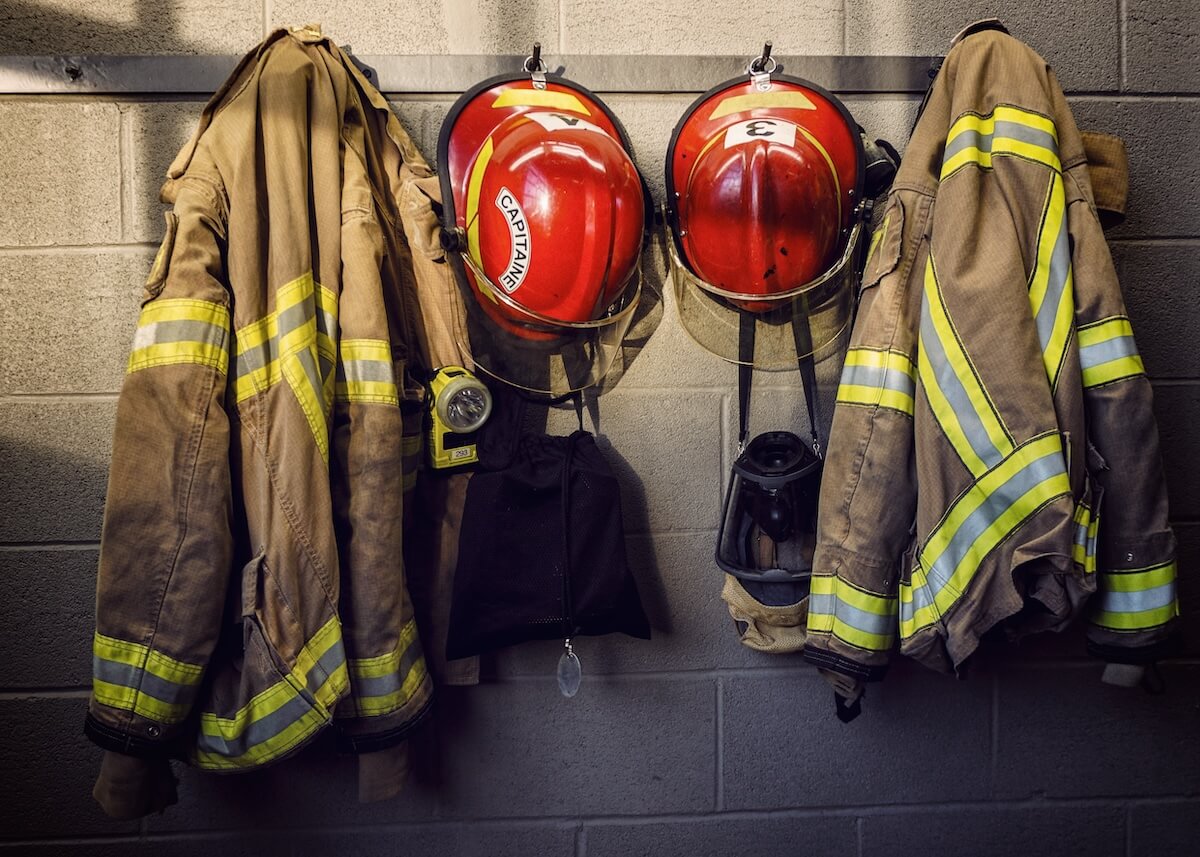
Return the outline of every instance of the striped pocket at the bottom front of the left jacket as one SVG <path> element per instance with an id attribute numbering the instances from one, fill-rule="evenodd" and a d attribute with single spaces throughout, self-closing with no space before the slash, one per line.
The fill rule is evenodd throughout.
<path id="1" fill-rule="evenodd" d="M 275 589 L 265 556 L 242 569 L 240 600 L 240 658 L 215 678 L 192 753 L 192 762 L 210 771 L 258 767 L 289 755 L 329 724 L 348 689 L 337 617 L 305 639 Z M 295 654 L 284 657 L 289 651 Z"/>

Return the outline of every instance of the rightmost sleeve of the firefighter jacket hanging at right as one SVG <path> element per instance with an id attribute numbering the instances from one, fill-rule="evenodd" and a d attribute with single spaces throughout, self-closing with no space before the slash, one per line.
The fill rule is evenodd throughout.
<path id="1" fill-rule="evenodd" d="M 1177 624 L 1175 537 L 1154 425 L 1153 394 L 1126 313 L 1087 174 L 1068 175 L 1075 323 L 1093 481 L 1085 562 L 1096 570 L 1088 651 L 1115 664 L 1171 653 Z M 1100 501 L 1103 496 L 1103 501 Z"/>

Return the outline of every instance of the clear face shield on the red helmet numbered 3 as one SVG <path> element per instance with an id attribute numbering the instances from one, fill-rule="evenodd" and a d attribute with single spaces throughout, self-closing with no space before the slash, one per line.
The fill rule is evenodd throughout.
<path id="1" fill-rule="evenodd" d="M 850 329 L 854 304 L 854 258 L 863 236 L 856 220 L 840 257 L 810 282 L 785 292 L 757 295 L 730 292 L 688 270 L 679 258 L 674 230 L 667 226 L 671 282 L 679 319 L 700 346 L 724 360 L 761 370 L 796 368 L 805 356 L 820 361 L 836 352 Z M 743 317 L 755 318 L 754 353 L 743 352 Z M 794 325 L 809 337 L 797 338 Z M 798 344 L 800 343 L 800 344 Z"/>

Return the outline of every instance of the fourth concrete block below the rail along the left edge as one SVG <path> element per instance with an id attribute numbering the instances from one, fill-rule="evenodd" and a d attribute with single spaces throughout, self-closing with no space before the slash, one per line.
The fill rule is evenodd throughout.
<path id="1" fill-rule="evenodd" d="M 2 551 L 0 687 L 91 685 L 96 551 Z"/>

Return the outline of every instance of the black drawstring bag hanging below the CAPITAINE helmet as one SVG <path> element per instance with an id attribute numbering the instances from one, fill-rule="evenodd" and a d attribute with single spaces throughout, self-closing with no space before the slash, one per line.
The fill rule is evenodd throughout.
<path id="1" fill-rule="evenodd" d="M 650 637 L 617 478 L 586 431 L 522 436 L 467 489 L 446 657 L 613 631 Z"/>

